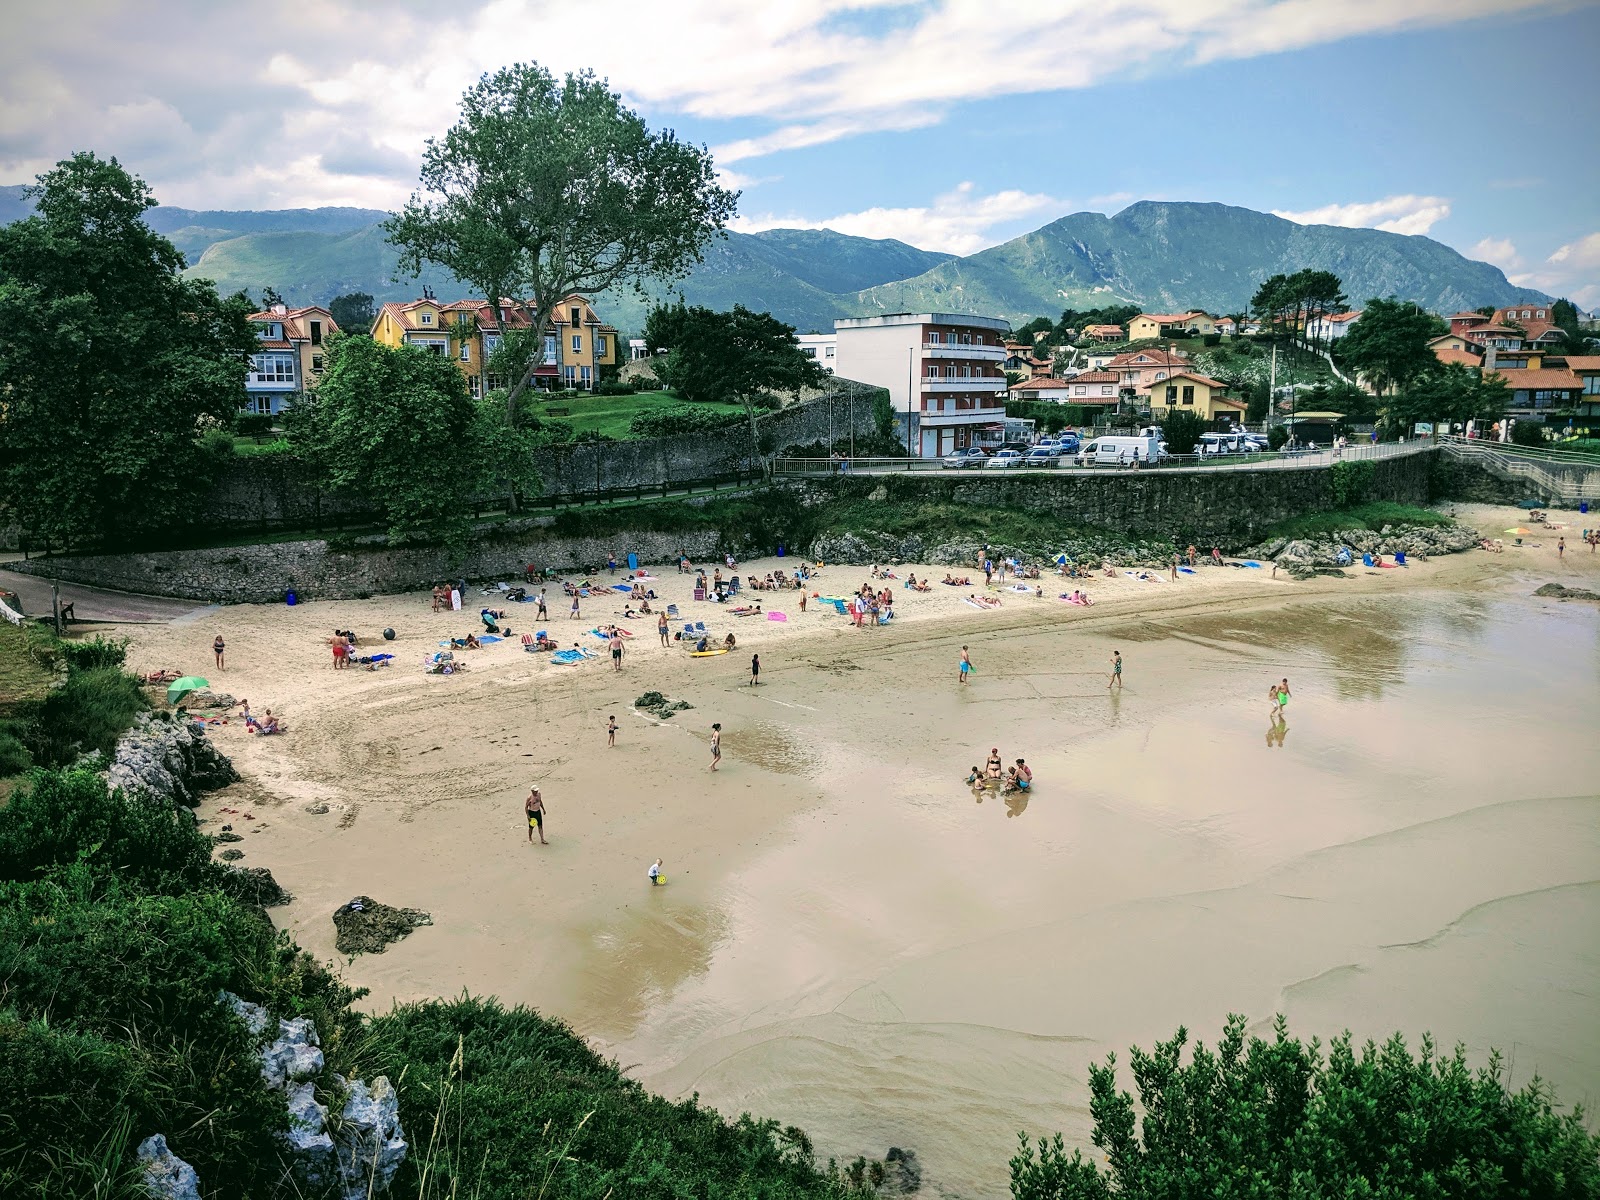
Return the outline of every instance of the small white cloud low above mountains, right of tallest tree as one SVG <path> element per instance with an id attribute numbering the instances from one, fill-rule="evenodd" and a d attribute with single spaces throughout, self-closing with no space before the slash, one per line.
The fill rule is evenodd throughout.
<path id="1" fill-rule="evenodd" d="M 971 254 L 1014 232 L 998 230 L 1021 221 L 1038 221 L 1045 213 L 1059 213 L 1062 208 L 1059 200 L 1035 192 L 1013 189 L 979 195 L 968 181 L 920 208 L 867 208 L 822 221 L 766 213 L 741 216 L 734 221 L 734 229 L 746 234 L 760 229 L 832 229 L 854 237 L 893 237 L 923 250 Z"/>

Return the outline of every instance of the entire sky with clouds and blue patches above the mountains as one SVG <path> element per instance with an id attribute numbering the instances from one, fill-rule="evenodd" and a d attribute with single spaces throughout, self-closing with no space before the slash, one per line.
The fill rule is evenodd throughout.
<path id="1" fill-rule="evenodd" d="M 968 254 L 1214 200 L 1600 307 L 1595 0 L 78 0 L 6 26 L 0 184 L 91 149 L 170 205 L 392 208 L 518 61 L 710 147 L 741 230 Z"/>

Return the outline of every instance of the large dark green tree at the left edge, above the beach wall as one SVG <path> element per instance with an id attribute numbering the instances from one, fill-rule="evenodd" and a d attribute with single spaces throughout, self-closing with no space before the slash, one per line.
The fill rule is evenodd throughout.
<path id="1" fill-rule="evenodd" d="M 214 466 L 200 434 L 245 400 L 248 301 L 182 277 L 115 158 L 75 154 L 29 194 L 0 229 L 0 501 L 69 544 L 179 523 Z"/>

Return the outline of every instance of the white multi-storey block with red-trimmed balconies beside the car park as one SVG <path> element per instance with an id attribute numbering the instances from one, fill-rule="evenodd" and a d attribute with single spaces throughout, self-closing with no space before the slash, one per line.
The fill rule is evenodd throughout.
<path id="1" fill-rule="evenodd" d="M 896 312 L 834 322 L 837 370 L 883 387 L 912 454 L 939 458 L 1005 438 L 1005 336 L 998 317 Z"/>

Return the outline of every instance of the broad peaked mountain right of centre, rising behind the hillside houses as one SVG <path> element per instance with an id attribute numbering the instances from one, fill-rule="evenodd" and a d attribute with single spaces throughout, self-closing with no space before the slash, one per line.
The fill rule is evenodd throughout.
<path id="1" fill-rule="evenodd" d="M 850 301 L 862 314 L 938 309 L 1013 322 L 1115 301 L 1232 312 L 1250 304 L 1261 280 L 1302 267 L 1339 275 L 1354 304 L 1392 294 L 1454 312 L 1547 299 L 1427 237 L 1298 226 L 1229 205 L 1141 202 L 1117 216 L 1064 216 Z"/>

